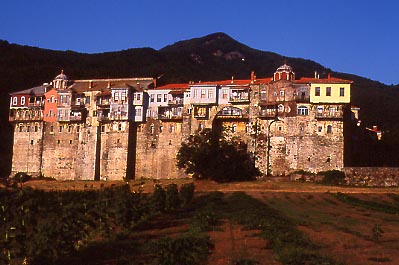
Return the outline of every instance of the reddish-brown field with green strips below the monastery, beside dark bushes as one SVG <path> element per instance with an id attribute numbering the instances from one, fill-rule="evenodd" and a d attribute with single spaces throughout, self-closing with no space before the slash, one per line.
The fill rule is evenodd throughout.
<path id="1" fill-rule="evenodd" d="M 132 191 L 151 196 L 155 184 L 191 182 L 135 180 L 129 185 Z M 124 184 L 29 181 L 24 185 L 47 191 L 89 191 Z M 193 259 L 207 256 L 205 261 L 197 259 L 198 264 L 399 264 L 399 188 L 273 181 L 194 184 L 192 206 L 155 215 L 123 236 L 99 241 L 78 255 L 91 257 L 86 264 L 149 264 L 154 242 L 163 242 L 167 253 L 190 248 L 198 250 L 190 252 Z M 199 240 L 196 244 L 193 233 Z M 209 249 L 197 235 L 209 238 Z"/>

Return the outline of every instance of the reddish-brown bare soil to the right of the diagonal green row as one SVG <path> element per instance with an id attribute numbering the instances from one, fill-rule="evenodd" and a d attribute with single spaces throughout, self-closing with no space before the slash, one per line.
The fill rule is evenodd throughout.
<path id="1" fill-rule="evenodd" d="M 251 195 L 298 223 L 298 228 L 343 264 L 399 264 L 399 216 L 354 207 L 328 193 L 256 193 Z M 389 202 L 385 194 L 352 194 L 362 200 Z M 373 227 L 384 233 L 373 240 Z"/>

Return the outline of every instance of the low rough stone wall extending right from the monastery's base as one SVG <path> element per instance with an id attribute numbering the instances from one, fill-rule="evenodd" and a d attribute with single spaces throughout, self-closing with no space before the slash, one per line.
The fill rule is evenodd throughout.
<path id="1" fill-rule="evenodd" d="M 393 167 L 346 167 L 347 185 L 369 187 L 399 186 L 399 168 Z"/>

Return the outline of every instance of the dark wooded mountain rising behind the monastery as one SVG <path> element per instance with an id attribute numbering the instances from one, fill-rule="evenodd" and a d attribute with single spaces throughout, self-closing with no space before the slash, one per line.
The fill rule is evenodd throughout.
<path id="1" fill-rule="evenodd" d="M 49 82 L 61 69 L 71 79 L 159 77 L 158 84 L 272 76 L 282 64 L 291 65 L 296 77 L 321 75 L 353 80 L 352 104 L 361 108 L 366 126 L 378 125 L 388 137 L 387 145 L 399 145 L 399 85 L 387 86 L 370 79 L 334 72 L 317 62 L 260 51 L 232 39 L 224 33 L 184 40 L 160 50 L 134 48 L 117 52 L 85 54 L 54 51 L 0 40 L 0 172 L 10 170 L 12 130 L 8 124 L 8 94 Z M 398 159 L 399 161 L 399 159 Z M 398 163 L 399 164 L 399 163 Z M 1 175 L 1 174 L 0 174 Z"/>

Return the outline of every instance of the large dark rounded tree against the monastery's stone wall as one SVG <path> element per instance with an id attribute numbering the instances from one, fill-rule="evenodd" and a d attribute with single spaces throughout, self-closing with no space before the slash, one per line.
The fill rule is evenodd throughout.
<path id="1" fill-rule="evenodd" d="M 212 129 L 190 135 L 177 153 L 177 167 L 196 179 L 254 180 L 259 175 L 247 145 Z"/>

